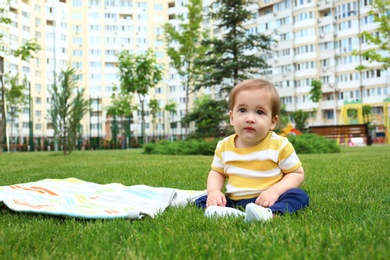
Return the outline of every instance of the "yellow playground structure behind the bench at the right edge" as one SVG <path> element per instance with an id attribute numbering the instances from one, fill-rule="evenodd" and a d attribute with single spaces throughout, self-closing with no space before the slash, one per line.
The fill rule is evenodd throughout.
<path id="1" fill-rule="evenodd" d="M 363 115 L 363 107 L 370 106 L 375 107 L 379 112 L 383 113 L 370 113 L 368 120 L 370 122 L 371 138 L 374 143 L 389 144 L 390 136 L 390 98 L 385 99 L 383 102 L 363 104 L 360 101 L 344 102 L 340 113 L 340 125 L 350 124 L 364 124 L 366 123 Z M 350 137 L 348 142 L 352 143 L 353 136 Z M 339 141 L 339 140 L 338 140 Z"/>

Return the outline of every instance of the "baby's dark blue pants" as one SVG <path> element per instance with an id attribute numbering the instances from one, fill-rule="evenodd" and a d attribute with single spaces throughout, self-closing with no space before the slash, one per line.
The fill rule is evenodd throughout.
<path id="1" fill-rule="evenodd" d="M 226 196 L 226 207 L 243 207 L 249 203 L 255 203 L 257 197 L 251 199 L 232 200 Z M 195 200 L 195 205 L 199 208 L 206 208 L 207 195 Z M 309 196 L 299 188 L 293 188 L 283 193 L 274 205 L 269 207 L 272 212 L 283 214 L 293 213 L 309 206 Z"/>

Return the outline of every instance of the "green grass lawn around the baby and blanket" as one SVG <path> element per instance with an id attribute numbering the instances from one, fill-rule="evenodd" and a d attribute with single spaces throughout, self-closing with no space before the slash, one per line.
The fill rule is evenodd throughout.
<path id="1" fill-rule="evenodd" d="M 311 205 L 269 223 L 208 219 L 195 206 L 156 218 L 80 220 L 0 209 L 0 259 L 388 259 L 390 146 L 305 154 Z M 140 150 L 0 156 L 0 186 L 76 177 L 202 190 L 211 156 Z"/>

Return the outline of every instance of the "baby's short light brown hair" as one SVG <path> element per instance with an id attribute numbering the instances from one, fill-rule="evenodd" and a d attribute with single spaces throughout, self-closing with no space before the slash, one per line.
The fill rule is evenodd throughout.
<path id="1" fill-rule="evenodd" d="M 229 109 L 233 110 L 235 98 L 237 93 L 247 89 L 267 89 L 271 93 L 271 108 L 272 116 L 279 115 L 280 110 L 280 98 L 275 86 L 264 79 L 248 79 L 241 83 L 238 83 L 230 92 L 229 95 Z"/>

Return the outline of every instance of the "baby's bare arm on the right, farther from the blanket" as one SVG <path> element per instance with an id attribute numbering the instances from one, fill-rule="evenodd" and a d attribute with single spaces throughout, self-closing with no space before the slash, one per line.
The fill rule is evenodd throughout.
<path id="1" fill-rule="evenodd" d="M 260 193 L 255 203 L 265 208 L 271 207 L 278 200 L 280 195 L 292 188 L 299 188 L 302 185 L 304 173 L 303 168 L 299 167 L 294 172 L 284 175 L 278 183 Z"/>

